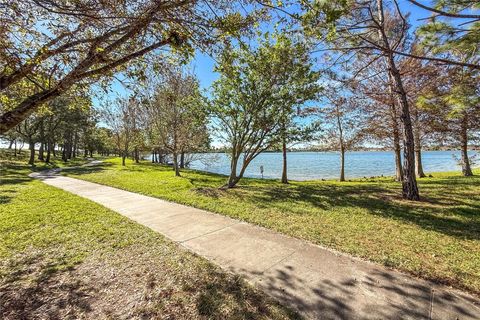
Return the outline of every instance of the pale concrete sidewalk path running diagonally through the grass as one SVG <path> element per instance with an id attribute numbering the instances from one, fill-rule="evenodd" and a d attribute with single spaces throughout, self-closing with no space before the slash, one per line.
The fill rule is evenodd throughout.
<path id="1" fill-rule="evenodd" d="M 55 172 L 44 183 L 112 209 L 311 319 L 480 319 L 480 300 L 254 225 Z"/>

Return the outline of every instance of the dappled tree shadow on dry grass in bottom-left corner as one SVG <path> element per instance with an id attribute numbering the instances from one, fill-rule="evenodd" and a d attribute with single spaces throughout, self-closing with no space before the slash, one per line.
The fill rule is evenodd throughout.
<path id="1" fill-rule="evenodd" d="M 0 281 L 1 319 L 74 319 L 91 310 L 93 289 L 70 277 L 62 259 L 24 254 L 7 268 Z"/>

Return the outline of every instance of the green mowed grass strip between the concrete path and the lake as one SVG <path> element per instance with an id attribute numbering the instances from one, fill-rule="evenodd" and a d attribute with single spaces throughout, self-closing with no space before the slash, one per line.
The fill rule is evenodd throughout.
<path id="1" fill-rule="evenodd" d="M 65 174 L 194 207 L 305 239 L 437 282 L 480 293 L 480 170 L 419 179 L 420 202 L 391 178 L 282 185 L 118 159 Z M 320 262 L 319 262 L 320 263 Z"/>

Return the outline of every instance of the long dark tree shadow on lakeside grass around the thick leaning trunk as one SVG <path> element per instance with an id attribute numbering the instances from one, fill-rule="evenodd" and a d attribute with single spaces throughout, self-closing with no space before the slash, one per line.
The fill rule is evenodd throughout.
<path id="1" fill-rule="evenodd" d="M 239 192 L 239 196 L 244 201 L 255 203 L 262 208 L 274 208 L 282 202 L 292 207 L 297 204 L 306 204 L 321 210 L 361 208 L 373 215 L 415 223 L 424 229 L 461 239 L 480 239 L 480 199 L 478 202 L 467 202 L 427 193 L 421 202 L 408 202 L 399 196 L 400 189 L 397 193 L 396 190 L 386 189 L 374 183 L 353 186 L 295 184 L 269 187 L 242 186 L 241 188 L 247 191 Z M 469 193 L 457 192 L 462 199 L 472 199 Z M 441 207 L 446 201 L 449 203 L 448 206 Z"/>

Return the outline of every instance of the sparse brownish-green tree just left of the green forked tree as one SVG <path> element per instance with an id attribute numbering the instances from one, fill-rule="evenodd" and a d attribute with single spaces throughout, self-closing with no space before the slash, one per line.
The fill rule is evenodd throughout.
<path id="1" fill-rule="evenodd" d="M 180 176 L 185 153 L 201 150 L 208 143 L 208 117 L 198 80 L 181 70 L 166 72 L 146 109 L 150 136 L 155 145 L 172 155 L 175 176 Z"/>

